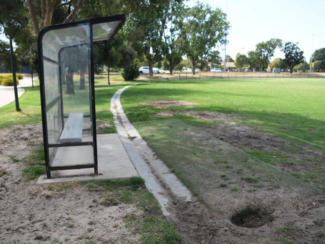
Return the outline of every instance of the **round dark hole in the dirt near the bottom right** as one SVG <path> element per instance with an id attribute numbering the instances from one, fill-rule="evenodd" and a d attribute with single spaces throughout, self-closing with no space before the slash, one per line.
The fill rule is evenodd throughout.
<path id="1" fill-rule="evenodd" d="M 260 206 L 246 206 L 231 216 L 231 222 L 235 225 L 256 228 L 271 222 L 273 217 L 270 215 L 274 209 L 265 209 Z"/>

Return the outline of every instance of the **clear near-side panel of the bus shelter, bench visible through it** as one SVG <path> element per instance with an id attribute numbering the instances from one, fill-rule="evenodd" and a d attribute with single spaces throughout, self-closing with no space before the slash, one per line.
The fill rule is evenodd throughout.
<path id="1" fill-rule="evenodd" d="M 42 38 L 50 168 L 94 164 L 89 27 L 52 29 Z"/>

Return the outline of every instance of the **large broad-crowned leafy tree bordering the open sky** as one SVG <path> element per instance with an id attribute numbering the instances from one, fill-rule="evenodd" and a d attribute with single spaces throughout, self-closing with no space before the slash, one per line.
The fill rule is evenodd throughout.
<path id="1" fill-rule="evenodd" d="M 193 74 L 199 60 L 209 59 L 212 49 L 224 43 L 228 28 L 225 14 L 219 8 L 213 10 L 208 5 L 197 3 L 186 9 L 183 39 Z"/>

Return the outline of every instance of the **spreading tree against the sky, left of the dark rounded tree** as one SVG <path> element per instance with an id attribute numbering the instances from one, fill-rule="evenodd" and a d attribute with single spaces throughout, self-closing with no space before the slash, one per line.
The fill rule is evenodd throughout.
<path id="1" fill-rule="evenodd" d="M 256 44 L 255 52 L 257 53 L 258 63 L 262 70 L 267 67 L 270 58 L 274 55 L 275 48 L 281 46 L 282 41 L 274 38 Z"/>

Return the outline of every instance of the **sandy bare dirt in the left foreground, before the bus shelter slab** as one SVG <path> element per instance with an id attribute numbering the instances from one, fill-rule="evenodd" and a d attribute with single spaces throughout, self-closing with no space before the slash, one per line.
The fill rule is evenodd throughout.
<path id="1" fill-rule="evenodd" d="M 25 181 L 21 159 L 41 141 L 38 124 L 0 130 L 0 243 L 136 243 L 123 222 L 141 214 L 134 205 L 103 206 L 102 191 L 80 184 L 51 189 Z"/>

